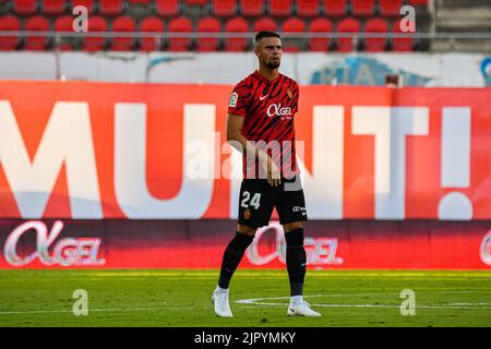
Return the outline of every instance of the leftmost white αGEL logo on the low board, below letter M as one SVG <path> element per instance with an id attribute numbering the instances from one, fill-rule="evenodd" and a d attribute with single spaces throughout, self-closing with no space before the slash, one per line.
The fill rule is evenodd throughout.
<path id="1" fill-rule="evenodd" d="M 23 266 L 36 258 L 39 258 L 39 262 L 46 266 L 56 264 L 61 266 L 94 266 L 106 263 L 104 258 L 97 258 L 100 246 L 99 238 L 63 238 L 55 244 L 50 253 L 49 248 L 62 229 L 63 222 L 60 220 L 53 224 L 50 232 L 43 221 L 29 220 L 20 225 L 7 238 L 3 248 L 5 261 L 13 266 Z M 19 240 L 29 230 L 36 232 L 36 251 L 26 256 L 20 256 L 16 251 Z"/>

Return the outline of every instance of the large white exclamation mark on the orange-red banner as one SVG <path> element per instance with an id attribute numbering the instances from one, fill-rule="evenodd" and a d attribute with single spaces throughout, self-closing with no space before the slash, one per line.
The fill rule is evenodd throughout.
<path id="1" fill-rule="evenodd" d="M 470 185 L 470 108 L 447 107 L 442 110 L 442 188 Z M 451 191 L 439 204 L 439 218 L 468 220 L 472 203 L 459 191 Z"/>

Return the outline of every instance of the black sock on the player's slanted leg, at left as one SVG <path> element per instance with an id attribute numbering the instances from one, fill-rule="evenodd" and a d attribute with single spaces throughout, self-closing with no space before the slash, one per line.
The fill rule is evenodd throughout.
<path id="1" fill-rule="evenodd" d="M 237 231 L 235 238 L 228 243 L 224 252 L 220 277 L 218 278 L 218 286 L 220 288 L 228 288 L 230 279 L 242 260 L 243 253 L 253 239 L 251 236 Z"/>

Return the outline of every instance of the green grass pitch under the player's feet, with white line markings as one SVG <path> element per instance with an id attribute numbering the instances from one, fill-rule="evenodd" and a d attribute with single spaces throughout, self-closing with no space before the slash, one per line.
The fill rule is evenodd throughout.
<path id="1" fill-rule="evenodd" d="M 0 327 L 7 326 L 491 326 L 491 273 L 308 270 L 304 293 L 322 317 L 289 317 L 286 270 L 239 269 L 233 318 L 216 317 L 218 270 L 0 270 Z M 75 316 L 75 289 L 88 315 Z M 403 316 L 404 289 L 416 315 Z M 255 299 L 251 301 L 251 299 Z M 238 303 L 240 300 L 249 300 Z"/>

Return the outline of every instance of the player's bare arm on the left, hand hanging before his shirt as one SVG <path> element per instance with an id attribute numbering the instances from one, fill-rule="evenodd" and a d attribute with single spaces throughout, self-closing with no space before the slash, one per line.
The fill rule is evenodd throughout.
<path id="1" fill-rule="evenodd" d="M 270 185 L 277 186 L 280 183 L 279 169 L 272 158 L 262 149 L 254 146 L 242 134 L 244 118 L 238 115 L 228 113 L 227 116 L 227 142 L 243 153 L 243 149 L 248 152 L 247 156 L 253 156 L 259 159 L 261 166 L 264 166 L 264 170 L 267 173 L 267 182 Z"/>

